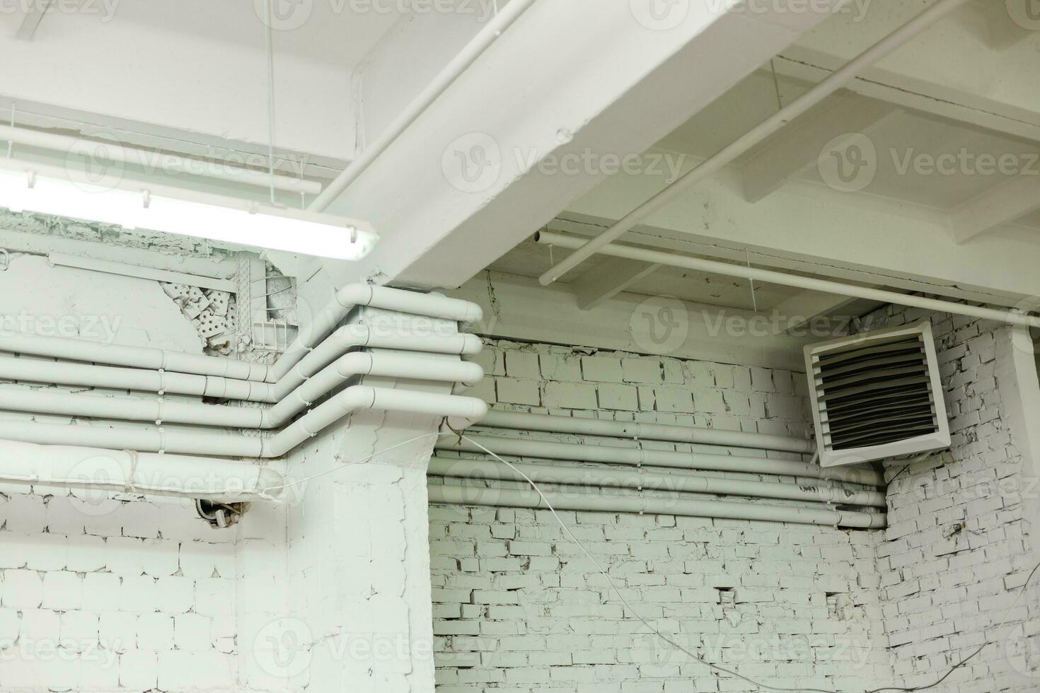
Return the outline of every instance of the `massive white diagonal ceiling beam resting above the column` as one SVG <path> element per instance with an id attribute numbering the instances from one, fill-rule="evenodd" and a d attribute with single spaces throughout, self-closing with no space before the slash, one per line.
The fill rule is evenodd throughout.
<path id="1" fill-rule="evenodd" d="M 653 4 L 528 9 L 329 208 L 383 234 L 365 275 L 461 285 L 621 163 L 649 168 L 639 158 L 657 139 L 829 16 Z M 401 69 L 416 51 L 400 44 Z M 355 270 L 329 268 L 337 282 Z"/>

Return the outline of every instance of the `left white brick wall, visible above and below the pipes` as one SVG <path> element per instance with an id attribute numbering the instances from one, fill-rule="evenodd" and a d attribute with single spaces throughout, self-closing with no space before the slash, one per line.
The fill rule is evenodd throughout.
<path id="1" fill-rule="evenodd" d="M 5 334 L 201 352 L 191 323 L 156 282 L 52 268 L 30 256 L 12 257 L 2 279 L 14 288 L 0 292 Z M 0 691 L 235 690 L 237 577 L 256 555 L 241 550 L 261 529 L 278 538 L 269 528 L 212 530 L 191 502 L 0 485 Z M 281 538 L 284 550 L 284 530 Z"/>

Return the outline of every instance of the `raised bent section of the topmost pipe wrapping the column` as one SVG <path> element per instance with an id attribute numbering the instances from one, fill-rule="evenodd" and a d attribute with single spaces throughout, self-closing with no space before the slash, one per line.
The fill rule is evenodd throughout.
<path id="1" fill-rule="evenodd" d="M 359 305 L 371 305 L 397 313 L 458 322 L 477 322 L 484 317 L 484 311 L 479 305 L 458 298 L 375 287 L 368 284 L 348 284 L 336 292 L 333 300 L 315 313 L 310 323 L 301 327 L 296 339 L 271 367 L 267 381 L 277 382 L 281 379 L 336 329 L 336 326 L 350 311 Z M 328 363 L 327 361 L 326 364 Z"/>

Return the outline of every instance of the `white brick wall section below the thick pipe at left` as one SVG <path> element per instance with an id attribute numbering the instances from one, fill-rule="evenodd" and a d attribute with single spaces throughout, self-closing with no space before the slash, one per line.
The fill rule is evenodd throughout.
<path id="1" fill-rule="evenodd" d="M 211 530 L 189 503 L 6 490 L 0 690 L 232 686 L 233 531 Z"/>

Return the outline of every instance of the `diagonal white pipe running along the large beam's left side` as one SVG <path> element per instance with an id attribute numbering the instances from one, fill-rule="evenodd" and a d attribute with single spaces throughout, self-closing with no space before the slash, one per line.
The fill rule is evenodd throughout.
<path id="1" fill-rule="evenodd" d="M 508 29 L 519 17 L 534 4 L 535 0 L 511 0 L 505 7 L 492 19 L 487 26 L 468 43 L 431 80 L 412 103 L 393 119 L 380 134 L 379 138 L 358 156 L 321 191 L 308 209 L 323 212 L 329 205 L 361 176 L 389 146 L 415 123 L 431 104 L 444 94 L 480 55 L 495 43 L 495 39 Z"/>

